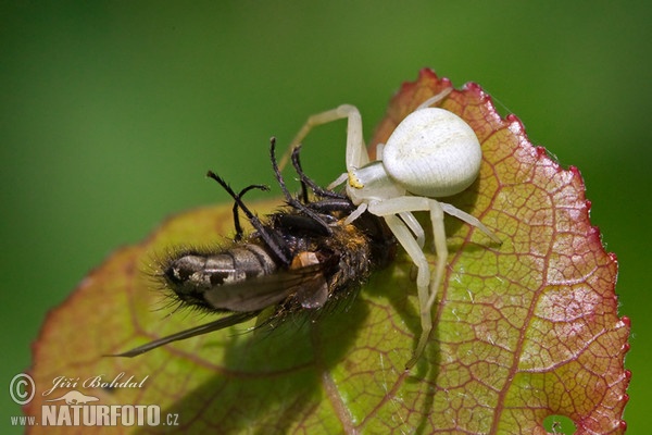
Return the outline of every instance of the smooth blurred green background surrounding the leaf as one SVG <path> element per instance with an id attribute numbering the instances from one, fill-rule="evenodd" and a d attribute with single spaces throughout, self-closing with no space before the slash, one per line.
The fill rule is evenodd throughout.
<path id="1" fill-rule="evenodd" d="M 0 431 L 22 432 L 7 388 L 48 310 L 165 216 L 228 201 L 208 169 L 238 188 L 273 184 L 269 136 L 287 144 L 309 114 L 349 102 L 368 137 L 430 66 L 479 83 L 581 171 L 632 320 L 625 419 L 647 433 L 651 22 L 643 1 L 3 1 Z M 304 166 L 327 183 L 343 167 L 343 123 L 312 144 Z"/>

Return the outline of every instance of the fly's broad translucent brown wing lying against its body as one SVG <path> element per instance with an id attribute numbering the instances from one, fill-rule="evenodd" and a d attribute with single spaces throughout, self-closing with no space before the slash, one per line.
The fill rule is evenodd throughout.
<path id="1" fill-rule="evenodd" d="M 204 293 L 204 299 L 216 309 L 246 312 L 279 303 L 290 295 L 300 291 L 299 302 L 303 304 L 303 298 L 311 299 L 309 308 L 317 308 L 328 297 L 324 268 L 324 263 L 311 264 L 235 284 L 215 286 Z M 311 296 L 303 296 L 313 294 L 322 295 L 316 298 L 316 302 L 312 301 Z"/>

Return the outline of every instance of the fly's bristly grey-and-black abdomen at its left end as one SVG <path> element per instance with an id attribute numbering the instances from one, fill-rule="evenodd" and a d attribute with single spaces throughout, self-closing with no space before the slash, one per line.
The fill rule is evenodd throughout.
<path id="1" fill-rule="evenodd" d="M 205 300 L 208 290 L 268 275 L 276 269 L 274 259 L 265 249 L 241 244 L 217 253 L 186 253 L 171 261 L 163 275 L 181 301 L 215 309 Z"/>

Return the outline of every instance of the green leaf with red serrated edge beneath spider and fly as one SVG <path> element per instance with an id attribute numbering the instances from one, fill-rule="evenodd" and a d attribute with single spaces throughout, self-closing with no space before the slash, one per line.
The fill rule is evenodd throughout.
<path id="1" fill-rule="evenodd" d="M 373 142 L 448 86 L 423 70 L 392 99 Z M 443 108 L 468 122 L 484 149 L 479 179 L 447 201 L 503 244 L 447 217 L 450 254 L 435 331 L 412 372 L 403 366 L 419 319 L 404 254 L 348 310 L 316 323 L 299 319 L 263 334 L 246 333 L 250 322 L 134 359 L 102 357 L 208 321 L 153 311 L 165 301 L 142 270 L 171 247 L 224 240 L 229 204 L 171 219 L 114 253 L 48 315 L 34 345 L 37 394 L 25 413 L 40 415 L 41 405 L 52 406 L 43 400 L 77 389 L 101 405 L 158 405 L 162 423 L 178 415 L 179 426 L 140 427 L 154 432 L 536 434 L 546 419 L 565 415 L 579 434 L 623 433 L 629 321 L 617 315 L 616 258 L 589 222 L 579 172 L 532 147 L 521 122 L 502 120 L 477 85 L 453 91 Z M 122 382 L 133 376 L 130 388 L 84 385 L 121 373 Z M 57 376 L 70 384 L 43 397 Z"/>

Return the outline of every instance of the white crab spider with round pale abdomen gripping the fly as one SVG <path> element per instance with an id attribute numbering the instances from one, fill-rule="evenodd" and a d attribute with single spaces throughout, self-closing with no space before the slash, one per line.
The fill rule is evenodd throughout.
<path id="1" fill-rule="evenodd" d="M 432 304 L 448 258 L 443 214 L 478 227 L 500 244 L 500 239 L 476 217 L 435 199 L 459 194 L 471 186 L 482 160 L 480 144 L 471 126 L 452 112 L 431 107 L 451 90 L 429 98 L 410 113 L 387 144 L 377 146 L 378 160 L 374 162 L 369 162 L 363 140 L 360 111 L 349 104 L 310 116 L 281 160 L 283 165 L 313 127 L 348 119 L 347 173 L 331 184 L 346 183 L 347 195 L 359 206 L 346 222 L 352 222 L 365 210 L 383 216 L 417 268 L 422 334 L 408 368 L 423 353 L 432 328 Z M 414 211 L 430 212 L 437 253 L 432 273 L 423 252 L 425 233 L 412 214 Z"/>

